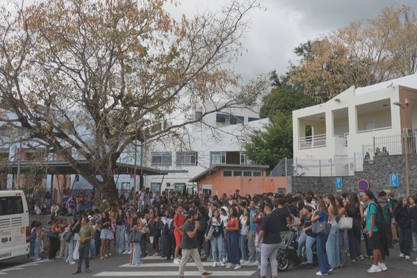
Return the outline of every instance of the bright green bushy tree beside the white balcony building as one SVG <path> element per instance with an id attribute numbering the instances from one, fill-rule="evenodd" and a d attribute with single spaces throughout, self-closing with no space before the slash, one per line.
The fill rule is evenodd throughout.
<path id="1" fill-rule="evenodd" d="M 277 111 L 266 131 L 253 133 L 245 144 L 246 154 L 256 164 L 275 167 L 284 157 L 293 154 L 291 116 Z"/>

